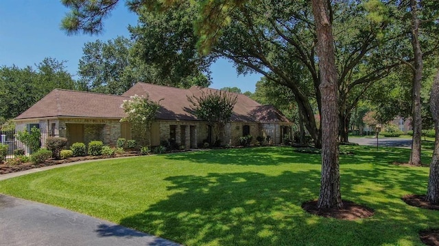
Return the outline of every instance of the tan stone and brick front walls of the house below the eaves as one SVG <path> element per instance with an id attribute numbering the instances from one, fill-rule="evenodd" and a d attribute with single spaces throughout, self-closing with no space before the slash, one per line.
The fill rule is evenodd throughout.
<path id="1" fill-rule="evenodd" d="M 55 124 L 55 137 L 66 137 L 66 124 L 84 124 L 84 141 L 87 144 L 93 140 L 101 140 L 105 145 L 115 146 L 117 139 L 121 137 L 121 123 L 117 119 L 81 119 L 81 118 L 61 118 L 51 120 L 29 120 L 26 122 L 16 122 L 16 131 L 23 131 L 27 124 L 40 124 L 43 132 L 51 130 L 51 124 Z M 208 125 L 206 122 L 191 121 L 175 121 L 175 120 L 158 120 L 160 141 L 167 141 L 170 138 L 170 126 L 176 126 L 176 143 L 185 148 L 197 147 L 208 137 Z M 224 127 L 223 145 L 238 146 L 239 137 L 242 137 L 243 126 L 250 126 L 250 135 L 252 135 L 252 143 L 256 141 L 258 136 L 272 137 L 271 143 L 281 143 L 281 125 L 289 124 L 279 123 L 254 123 L 254 122 L 230 122 Z M 181 139 L 181 127 L 185 127 L 185 139 Z M 191 126 L 195 128 L 193 139 L 191 142 Z M 132 131 L 132 138 L 139 141 L 139 136 Z M 42 140 L 44 141 L 44 140 Z M 44 143 L 42 143 L 44 146 Z"/>

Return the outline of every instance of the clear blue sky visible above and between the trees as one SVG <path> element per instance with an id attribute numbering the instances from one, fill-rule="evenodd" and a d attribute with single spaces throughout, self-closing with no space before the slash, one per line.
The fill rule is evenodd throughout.
<path id="1" fill-rule="evenodd" d="M 34 67 L 45 57 L 53 57 L 67 61 L 67 70 L 76 74 L 84 43 L 129 37 L 128 25 L 137 23 L 136 14 L 129 12 L 121 0 L 104 21 L 104 33 L 67 36 L 60 29 L 60 22 L 68 11 L 58 0 L 0 0 L 0 66 Z M 254 85 L 261 78 L 259 74 L 238 77 L 233 64 L 225 59 L 213 64 L 211 70 L 211 87 L 216 89 L 236 86 L 242 92 L 254 92 Z"/>

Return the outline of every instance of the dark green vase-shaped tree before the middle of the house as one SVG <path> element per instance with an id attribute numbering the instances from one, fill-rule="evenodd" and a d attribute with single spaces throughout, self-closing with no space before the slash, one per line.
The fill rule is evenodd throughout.
<path id="1" fill-rule="evenodd" d="M 219 144 L 224 126 L 230 121 L 232 117 L 233 107 L 238 100 L 238 96 L 230 92 L 214 91 L 204 92 L 200 96 L 188 96 L 187 100 L 191 102 L 191 109 L 197 118 L 208 122 L 213 129 L 215 141 L 213 143 Z"/>

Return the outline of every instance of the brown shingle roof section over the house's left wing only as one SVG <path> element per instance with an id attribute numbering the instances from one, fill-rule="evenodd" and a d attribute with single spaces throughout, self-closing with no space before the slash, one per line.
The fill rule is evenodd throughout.
<path id="1" fill-rule="evenodd" d="M 55 89 L 16 120 L 45 117 L 123 118 L 125 96 Z"/>

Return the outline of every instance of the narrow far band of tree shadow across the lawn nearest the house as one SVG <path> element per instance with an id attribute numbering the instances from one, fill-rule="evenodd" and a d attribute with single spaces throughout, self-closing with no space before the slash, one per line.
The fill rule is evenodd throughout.
<path id="1" fill-rule="evenodd" d="M 340 164 L 385 164 L 394 162 L 404 163 L 409 160 L 410 149 L 379 148 L 371 146 L 340 146 L 340 151 L 354 154 L 340 155 Z M 422 154 L 423 163 L 431 162 L 431 151 Z M 294 152 L 291 147 L 259 147 L 235 148 L 221 150 L 206 150 L 165 155 L 173 161 L 191 161 L 193 163 L 223 164 L 223 165 L 283 165 L 283 164 L 313 164 L 322 163 L 320 154 Z"/>

